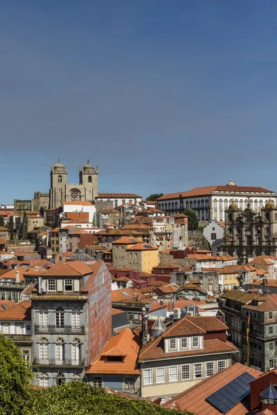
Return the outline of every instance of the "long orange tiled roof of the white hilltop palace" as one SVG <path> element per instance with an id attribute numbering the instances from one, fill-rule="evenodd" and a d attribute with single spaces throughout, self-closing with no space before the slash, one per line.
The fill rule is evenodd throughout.
<path id="1" fill-rule="evenodd" d="M 206 194 L 213 194 L 214 192 L 254 192 L 254 193 L 274 193 L 272 190 L 264 189 L 263 187 L 244 187 L 244 186 L 206 186 L 196 187 L 187 192 L 168 193 L 161 196 L 158 201 L 178 199 L 181 197 L 204 196 Z"/>

